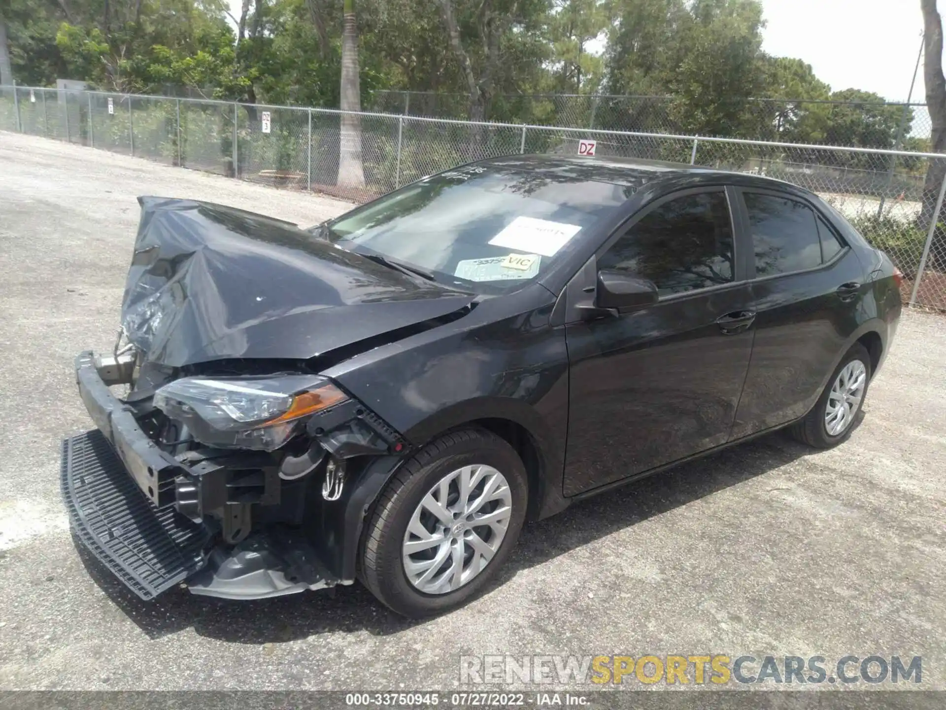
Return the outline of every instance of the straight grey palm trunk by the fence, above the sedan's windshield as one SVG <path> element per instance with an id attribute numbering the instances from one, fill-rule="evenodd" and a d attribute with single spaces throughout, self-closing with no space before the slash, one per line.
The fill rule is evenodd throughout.
<path id="1" fill-rule="evenodd" d="M 344 0 L 342 19 L 342 112 L 359 112 L 361 94 L 358 66 L 358 24 L 355 0 Z M 361 168 L 361 116 L 342 113 L 342 147 L 339 152 L 339 185 L 363 187 Z"/>

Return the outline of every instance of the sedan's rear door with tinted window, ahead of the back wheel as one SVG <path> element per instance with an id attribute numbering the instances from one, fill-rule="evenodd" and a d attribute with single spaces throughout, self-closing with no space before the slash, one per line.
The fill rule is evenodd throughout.
<path id="1" fill-rule="evenodd" d="M 778 190 L 737 192 L 752 242 L 756 337 L 732 439 L 815 405 L 866 293 L 860 260 L 813 204 Z"/>

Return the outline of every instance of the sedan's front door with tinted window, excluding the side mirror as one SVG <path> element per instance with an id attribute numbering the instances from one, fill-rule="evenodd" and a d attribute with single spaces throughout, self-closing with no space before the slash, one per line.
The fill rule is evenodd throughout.
<path id="1" fill-rule="evenodd" d="M 717 186 L 650 204 L 569 283 L 566 495 L 726 442 L 753 334 L 729 201 Z M 582 318 L 599 269 L 650 279 L 657 303 Z"/>

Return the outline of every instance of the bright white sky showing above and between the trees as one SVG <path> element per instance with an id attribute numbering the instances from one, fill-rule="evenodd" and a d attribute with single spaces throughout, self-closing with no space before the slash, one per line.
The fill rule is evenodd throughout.
<path id="1" fill-rule="evenodd" d="M 861 89 L 906 100 L 920 51 L 919 0 L 761 0 L 762 49 L 798 57 L 832 90 Z M 939 0 L 940 12 L 946 0 Z M 240 0 L 229 0 L 239 17 Z M 913 100 L 924 100 L 922 67 Z"/>

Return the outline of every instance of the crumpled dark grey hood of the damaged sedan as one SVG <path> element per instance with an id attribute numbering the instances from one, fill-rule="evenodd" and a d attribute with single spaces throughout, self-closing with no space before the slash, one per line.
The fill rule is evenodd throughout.
<path id="1" fill-rule="evenodd" d="M 122 326 L 158 364 L 307 359 L 447 315 L 473 299 L 289 222 L 190 200 L 138 202 Z"/>

